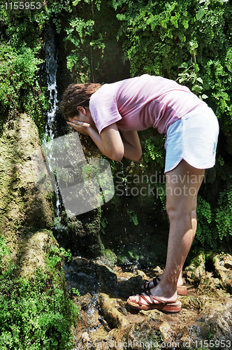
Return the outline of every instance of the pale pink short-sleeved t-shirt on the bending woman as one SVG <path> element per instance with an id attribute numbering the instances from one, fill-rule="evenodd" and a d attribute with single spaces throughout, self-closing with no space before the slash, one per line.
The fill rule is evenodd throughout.
<path id="1" fill-rule="evenodd" d="M 174 80 L 144 74 L 103 85 L 92 94 L 89 110 L 99 134 L 113 123 L 122 131 L 155 127 L 163 134 L 199 104 L 205 102 L 188 87 Z"/>

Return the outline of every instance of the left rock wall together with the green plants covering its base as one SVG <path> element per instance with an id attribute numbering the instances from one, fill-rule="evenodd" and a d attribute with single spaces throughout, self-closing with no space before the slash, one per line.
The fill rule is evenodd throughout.
<path id="1" fill-rule="evenodd" d="M 52 198 L 31 169 L 38 130 L 22 114 L 1 120 L 0 133 L 0 348 L 70 349 L 77 310 L 61 267 L 66 253 L 52 235 Z"/>

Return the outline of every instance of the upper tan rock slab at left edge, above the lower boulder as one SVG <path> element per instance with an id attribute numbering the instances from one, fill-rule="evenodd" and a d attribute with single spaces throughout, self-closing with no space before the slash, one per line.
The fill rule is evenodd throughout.
<path id="1" fill-rule="evenodd" d="M 31 155 L 39 146 L 38 131 L 26 114 L 1 120 L 1 235 L 17 254 L 18 241 L 38 228 L 51 230 L 52 202 L 34 183 Z"/>

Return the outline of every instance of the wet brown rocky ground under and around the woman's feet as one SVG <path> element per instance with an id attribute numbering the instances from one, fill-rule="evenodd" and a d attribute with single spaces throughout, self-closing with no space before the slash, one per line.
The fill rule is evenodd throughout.
<path id="1" fill-rule="evenodd" d="M 231 260 L 218 257 L 219 265 Z M 201 257 L 199 257 L 201 261 Z M 192 264 L 193 266 L 193 264 Z M 226 269 L 226 267 L 224 267 Z M 75 328 L 75 350 L 84 349 L 201 349 L 211 344 L 217 349 L 231 349 L 232 300 L 229 286 L 198 267 L 184 273 L 188 295 L 179 296 L 182 310 L 178 314 L 161 311 L 133 311 L 126 303 L 129 295 L 140 293 L 140 286 L 150 279 L 145 272 L 113 266 L 108 260 L 75 257 L 64 265 L 68 289 L 78 288 L 80 297 L 73 299 L 80 308 Z M 156 267 L 152 276 L 162 272 Z M 231 269 L 226 276 L 232 277 Z M 196 276 L 196 279 L 194 278 Z M 224 284 L 224 286 L 227 286 Z"/>

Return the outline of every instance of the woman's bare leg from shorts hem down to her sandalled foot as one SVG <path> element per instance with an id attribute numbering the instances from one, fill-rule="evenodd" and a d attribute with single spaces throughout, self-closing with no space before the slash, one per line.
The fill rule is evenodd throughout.
<path id="1" fill-rule="evenodd" d="M 196 233 L 196 197 L 204 174 L 205 170 L 191 167 L 184 160 L 166 174 L 166 210 L 170 221 L 168 252 L 162 279 L 157 287 L 151 288 L 152 295 L 164 301 L 177 300 L 178 279 Z M 130 300 L 138 302 L 138 296 L 133 295 Z"/>

